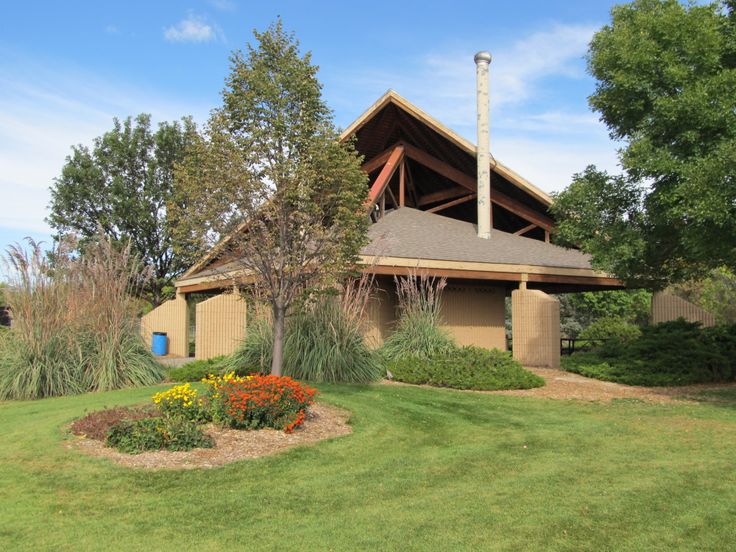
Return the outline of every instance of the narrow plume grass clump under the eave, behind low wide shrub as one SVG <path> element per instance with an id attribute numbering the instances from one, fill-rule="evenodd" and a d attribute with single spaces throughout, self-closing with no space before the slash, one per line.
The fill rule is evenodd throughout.
<path id="1" fill-rule="evenodd" d="M 452 337 L 440 328 L 442 292 L 446 278 L 409 274 L 395 277 L 399 299 L 399 319 L 381 347 L 386 359 L 401 357 L 431 358 L 452 352 L 456 345 Z"/>

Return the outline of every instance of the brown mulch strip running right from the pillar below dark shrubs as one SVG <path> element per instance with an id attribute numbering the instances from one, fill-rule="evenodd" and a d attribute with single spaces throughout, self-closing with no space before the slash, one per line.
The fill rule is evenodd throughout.
<path id="1" fill-rule="evenodd" d="M 638 387 L 586 378 L 572 372 L 553 368 L 528 368 L 544 378 L 544 387 L 513 391 L 487 391 L 519 397 L 545 397 L 582 401 L 611 401 L 613 399 L 640 399 L 657 403 L 695 398 L 705 391 L 734 389 L 736 383 L 683 385 L 679 387 Z"/>

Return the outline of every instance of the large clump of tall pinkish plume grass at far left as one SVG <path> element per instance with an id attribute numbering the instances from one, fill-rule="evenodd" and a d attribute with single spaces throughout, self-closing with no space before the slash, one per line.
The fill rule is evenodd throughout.
<path id="1" fill-rule="evenodd" d="M 13 324 L 0 338 L 0 398 L 35 399 L 161 380 L 140 337 L 134 295 L 147 278 L 130 247 L 98 236 L 83 256 L 62 242 L 11 246 Z"/>

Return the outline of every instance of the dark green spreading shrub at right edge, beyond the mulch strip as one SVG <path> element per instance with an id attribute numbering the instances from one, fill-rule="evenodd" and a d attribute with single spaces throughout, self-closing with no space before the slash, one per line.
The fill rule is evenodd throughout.
<path id="1" fill-rule="evenodd" d="M 571 372 L 628 385 L 688 385 L 736 379 L 736 325 L 684 320 L 646 327 L 638 339 L 563 359 Z"/>

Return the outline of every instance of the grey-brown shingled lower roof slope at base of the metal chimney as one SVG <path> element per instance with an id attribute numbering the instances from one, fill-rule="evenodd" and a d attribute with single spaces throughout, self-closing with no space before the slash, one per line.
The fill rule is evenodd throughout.
<path id="1" fill-rule="evenodd" d="M 402 207 L 371 225 L 363 255 L 590 269 L 590 257 L 500 230 L 479 238 L 470 222 Z"/>

